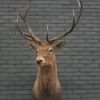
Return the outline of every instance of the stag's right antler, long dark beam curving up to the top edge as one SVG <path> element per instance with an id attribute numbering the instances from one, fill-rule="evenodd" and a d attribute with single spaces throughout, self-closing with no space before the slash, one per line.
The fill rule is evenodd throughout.
<path id="1" fill-rule="evenodd" d="M 70 32 L 73 31 L 73 29 L 75 28 L 75 26 L 79 22 L 80 17 L 81 17 L 81 12 L 82 12 L 82 1 L 81 0 L 77 0 L 77 2 L 78 2 L 78 5 L 79 5 L 79 8 L 80 8 L 80 12 L 79 12 L 79 15 L 78 15 L 77 19 L 75 18 L 75 12 L 74 12 L 74 9 L 73 9 L 73 22 L 72 22 L 71 28 L 66 33 L 58 35 L 58 36 L 56 36 L 56 37 L 54 37 L 52 39 L 49 39 L 50 43 L 53 43 L 54 41 L 62 39 L 63 37 L 65 37 L 66 35 L 68 35 Z"/>

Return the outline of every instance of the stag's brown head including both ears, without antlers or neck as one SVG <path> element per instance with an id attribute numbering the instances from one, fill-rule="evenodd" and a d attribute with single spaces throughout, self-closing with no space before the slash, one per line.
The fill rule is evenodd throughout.
<path id="1" fill-rule="evenodd" d="M 55 56 L 55 49 L 62 47 L 62 44 L 50 44 L 48 42 L 42 42 L 41 44 L 34 45 L 32 43 L 29 43 L 29 46 L 35 50 L 37 57 L 36 57 L 36 63 L 40 66 L 49 66 L 54 64 L 56 61 Z"/>

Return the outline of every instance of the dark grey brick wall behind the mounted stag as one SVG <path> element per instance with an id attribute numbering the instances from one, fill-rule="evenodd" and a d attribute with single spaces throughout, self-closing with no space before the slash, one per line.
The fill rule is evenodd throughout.
<path id="1" fill-rule="evenodd" d="M 33 32 L 44 38 L 44 24 L 50 35 L 65 32 L 76 1 L 32 0 L 28 19 Z M 100 1 L 82 1 L 80 22 L 56 54 L 62 100 L 100 100 Z M 17 8 L 25 11 L 26 6 L 27 0 L 0 0 L 0 100 L 32 100 L 35 54 L 15 25 Z"/>

